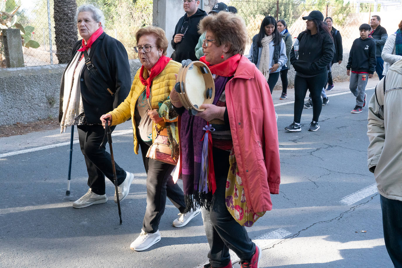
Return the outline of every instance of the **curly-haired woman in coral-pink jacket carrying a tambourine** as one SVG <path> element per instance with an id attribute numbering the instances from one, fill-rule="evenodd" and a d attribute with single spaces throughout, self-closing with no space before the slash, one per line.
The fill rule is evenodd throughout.
<path id="1" fill-rule="evenodd" d="M 214 77 L 213 104 L 202 104 L 200 108 L 205 110 L 194 117 L 185 111 L 178 93 L 170 93 L 172 104 L 181 113 L 180 164 L 186 205 L 202 206 L 210 247 L 209 264 L 204 267 L 232 267 L 231 249 L 242 268 L 256 268 L 261 251 L 245 227 L 271 210 L 270 193 L 279 193 L 275 109 L 264 75 L 243 56 L 248 38 L 244 20 L 219 12 L 201 20 L 199 33 L 205 31 L 205 56 L 200 60 Z M 210 131 L 212 149 L 208 150 L 212 153 L 208 158 L 212 162 L 205 190 L 200 181 L 200 140 Z"/>

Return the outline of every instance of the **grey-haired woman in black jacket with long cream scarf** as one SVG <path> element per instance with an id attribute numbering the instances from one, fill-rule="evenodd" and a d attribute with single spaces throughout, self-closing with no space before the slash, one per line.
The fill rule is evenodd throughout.
<path id="1" fill-rule="evenodd" d="M 114 180 L 111 156 L 104 145 L 100 146 L 104 130 L 99 117 L 117 107 L 129 93 L 130 66 L 123 45 L 103 32 L 102 11 L 92 5 L 82 5 L 77 9 L 76 18 L 82 39 L 74 44 L 62 76 L 59 121 L 62 131 L 68 125 L 77 125 L 88 171 L 90 188 L 73 203 L 79 209 L 107 202 L 105 176 Z M 115 167 L 122 201 L 129 192 L 133 174 L 117 164 Z"/>

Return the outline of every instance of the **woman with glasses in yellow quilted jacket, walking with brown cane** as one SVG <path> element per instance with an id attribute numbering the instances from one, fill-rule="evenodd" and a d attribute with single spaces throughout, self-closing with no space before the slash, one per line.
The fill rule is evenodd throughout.
<path id="1" fill-rule="evenodd" d="M 135 33 L 142 67 L 135 74 L 131 91 L 127 98 L 113 111 L 102 115 L 105 126 L 121 124 L 132 119 L 134 152 L 141 148 L 142 160 L 147 173 L 147 207 L 142 231 L 131 243 L 130 248 L 142 251 L 160 241 L 159 222 L 164 213 L 166 196 L 179 210 L 179 217 L 173 221 L 174 227 L 185 226 L 200 210 L 186 209 L 183 190 L 172 180 L 174 165 L 148 158 L 147 152 L 155 141 L 157 132 L 169 127 L 170 139 L 177 133 L 177 114 L 170 104 L 169 94 L 174 88 L 180 64 L 166 57 L 168 40 L 165 32 L 158 27 L 144 27 Z M 173 155 L 178 154 L 178 148 Z"/>

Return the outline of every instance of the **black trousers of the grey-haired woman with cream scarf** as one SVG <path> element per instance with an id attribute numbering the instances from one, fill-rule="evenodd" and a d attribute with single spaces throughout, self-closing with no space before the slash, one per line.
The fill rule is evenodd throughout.
<path id="1" fill-rule="evenodd" d="M 88 186 L 95 194 L 105 194 L 105 176 L 114 184 L 112 160 L 110 153 L 105 151 L 107 142 L 99 148 L 105 135 L 102 125 L 78 125 L 78 139 L 82 154 L 85 158 L 88 171 Z M 115 126 L 111 127 L 113 131 Z M 120 185 L 126 178 L 125 171 L 115 163 L 117 185 Z"/>

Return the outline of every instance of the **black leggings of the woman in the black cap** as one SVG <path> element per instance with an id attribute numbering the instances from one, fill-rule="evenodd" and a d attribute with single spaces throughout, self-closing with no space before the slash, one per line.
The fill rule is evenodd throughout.
<path id="1" fill-rule="evenodd" d="M 306 97 L 307 90 L 310 90 L 311 100 L 313 102 L 313 121 L 318 122 L 322 110 L 321 92 L 328 73 L 322 72 L 313 77 L 295 76 L 295 115 L 294 121 L 300 123 L 301 113 L 303 112 L 304 98 Z"/>

